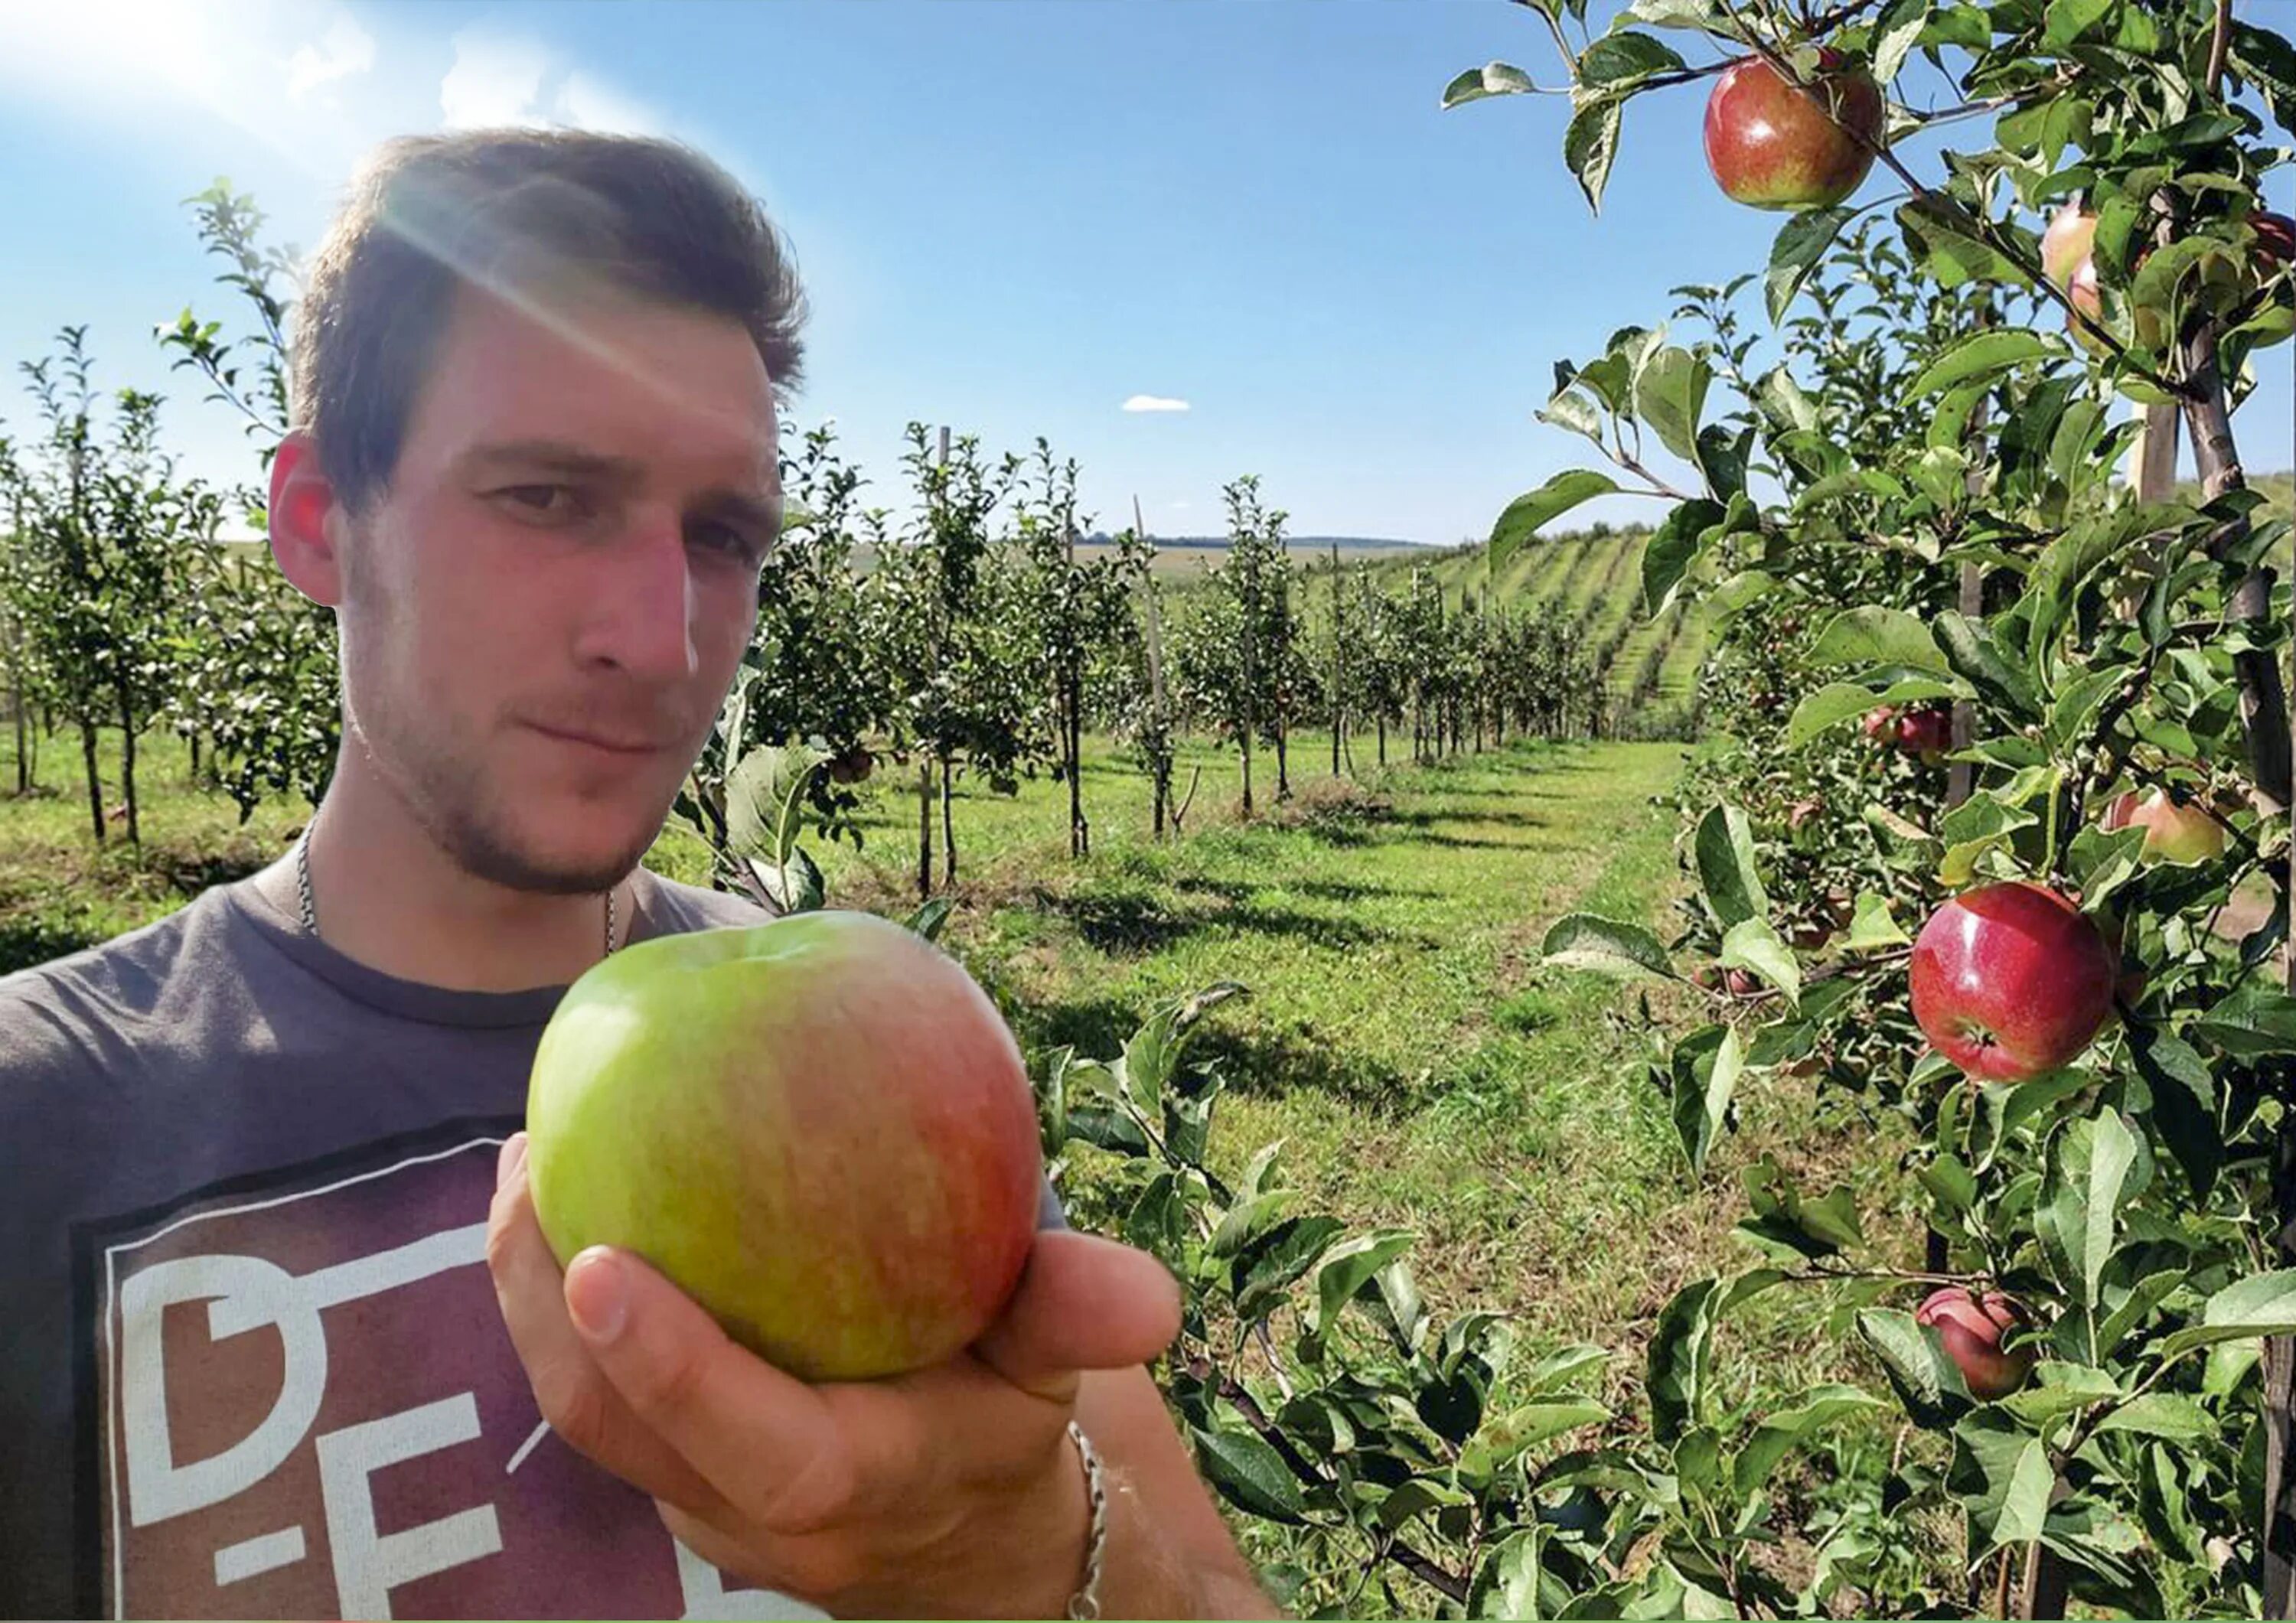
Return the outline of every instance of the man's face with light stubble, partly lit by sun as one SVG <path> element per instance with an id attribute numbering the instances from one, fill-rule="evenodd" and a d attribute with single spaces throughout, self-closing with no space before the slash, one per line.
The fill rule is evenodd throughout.
<path id="1" fill-rule="evenodd" d="M 737 321 L 461 294 L 390 487 L 344 526 L 363 769 L 471 872 L 604 891 L 709 737 L 778 514 L 771 383 Z"/>

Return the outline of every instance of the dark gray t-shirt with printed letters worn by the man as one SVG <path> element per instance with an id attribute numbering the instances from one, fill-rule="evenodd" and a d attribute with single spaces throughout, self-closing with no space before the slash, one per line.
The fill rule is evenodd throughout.
<path id="1" fill-rule="evenodd" d="M 641 870 L 629 939 L 762 918 Z M 503 1331 L 563 992 L 386 976 L 253 882 L 0 978 L 0 1614 L 820 1616 L 551 1435 Z"/>

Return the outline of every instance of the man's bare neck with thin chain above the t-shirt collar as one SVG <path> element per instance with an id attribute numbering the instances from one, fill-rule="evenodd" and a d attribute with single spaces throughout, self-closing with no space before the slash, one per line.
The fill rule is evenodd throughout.
<path id="1" fill-rule="evenodd" d="M 344 957 L 450 992 L 526 992 L 572 985 L 606 955 L 604 893 L 510 891 L 404 826 L 367 822 L 331 792 L 303 833 L 319 939 Z M 613 886 L 615 948 L 629 941 L 643 882 L 641 865 Z M 301 916 L 296 852 L 259 884 Z"/>

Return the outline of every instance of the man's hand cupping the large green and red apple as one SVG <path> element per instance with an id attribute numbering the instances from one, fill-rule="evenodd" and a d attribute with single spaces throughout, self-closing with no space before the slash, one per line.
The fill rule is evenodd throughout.
<path id="1" fill-rule="evenodd" d="M 1063 1616 L 1091 1517 L 1068 1442 L 1079 1373 L 1148 1364 L 1180 1329 L 1162 1263 L 1054 1230 L 967 1352 L 806 1384 L 629 1253 L 560 1274 L 526 1134 L 503 1146 L 487 1267 L 551 1430 L 705 1561 L 833 1614 Z"/>

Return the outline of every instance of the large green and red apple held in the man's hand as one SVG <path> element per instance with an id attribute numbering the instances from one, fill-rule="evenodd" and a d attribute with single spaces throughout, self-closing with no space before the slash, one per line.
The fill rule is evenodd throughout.
<path id="1" fill-rule="evenodd" d="M 1010 1302 L 1042 1148 L 1013 1033 L 870 914 L 654 937 L 583 973 L 535 1051 L 535 1217 L 613 1244 L 804 1380 L 939 1364 Z"/>

